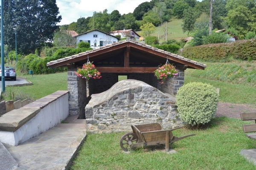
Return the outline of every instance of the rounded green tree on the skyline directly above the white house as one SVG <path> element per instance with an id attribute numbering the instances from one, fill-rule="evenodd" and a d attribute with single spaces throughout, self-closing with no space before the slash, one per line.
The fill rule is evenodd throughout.
<path id="1" fill-rule="evenodd" d="M 108 15 L 107 9 L 102 12 L 93 12 L 93 17 L 90 18 L 90 22 L 88 23 L 89 29 L 99 29 L 104 32 L 109 32 L 111 26 L 109 24 Z"/>

